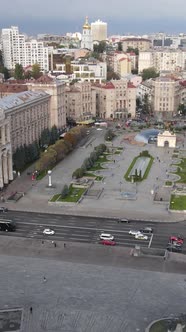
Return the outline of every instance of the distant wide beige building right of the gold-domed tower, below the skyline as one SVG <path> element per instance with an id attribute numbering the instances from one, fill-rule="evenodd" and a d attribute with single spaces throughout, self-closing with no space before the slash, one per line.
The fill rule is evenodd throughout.
<path id="1" fill-rule="evenodd" d="M 139 51 L 148 51 L 151 46 L 151 41 L 145 38 L 126 38 L 122 40 L 122 49 L 124 52 L 129 47 L 137 48 Z"/>

